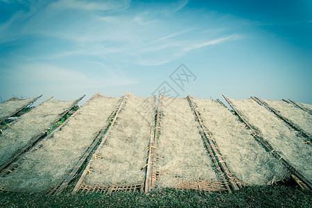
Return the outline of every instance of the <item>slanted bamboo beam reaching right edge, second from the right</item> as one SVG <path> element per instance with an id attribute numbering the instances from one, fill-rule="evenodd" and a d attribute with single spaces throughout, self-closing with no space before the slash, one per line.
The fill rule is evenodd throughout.
<path id="1" fill-rule="evenodd" d="M 306 141 L 306 144 L 310 144 L 310 145 L 312 144 L 311 143 L 312 137 L 308 132 L 306 132 L 305 130 L 300 128 L 298 125 L 296 125 L 295 123 L 293 123 L 292 121 L 290 121 L 286 117 L 279 114 L 279 112 L 277 110 L 275 110 L 273 107 L 270 107 L 270 105 L 268 103 L 266 103 L 265 101 L 263 101 L 262 99 L 257 98 L 256 96 L 251 96 L 251 98 L 254 101 L 256 101 L 257 103 L 260 102 L 266 109 L 270 110 L 270 112 L 273 112 L 277 117 L 279 117 L 279 119 L 281 119 L 285 123 L 287 123 L 287 125 L 290 126 L 290 128 L 293 128 L 297 132 L 300 132 L 301 135 L 303 136 L 302 138 Z"/>

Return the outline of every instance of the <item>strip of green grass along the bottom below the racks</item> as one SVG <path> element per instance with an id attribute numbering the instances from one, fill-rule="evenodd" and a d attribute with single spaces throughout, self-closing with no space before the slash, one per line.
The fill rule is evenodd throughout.
<path id="1" fill-rule="evenodd" d="M 144 193 L 0 193 L 0 207 L 312 207 L 312 193 L 292 184 L 245 187 L 235 193 L 165 189 Z"/>

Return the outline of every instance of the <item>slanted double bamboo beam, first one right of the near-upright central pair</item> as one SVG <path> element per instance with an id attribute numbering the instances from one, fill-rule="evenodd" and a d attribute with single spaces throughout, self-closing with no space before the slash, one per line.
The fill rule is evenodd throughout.
<path id="1" fill-rule="evenodd" d="M 217 166 L 217 171 L 219 171 L 220 175 L 222 175 L 222 179 L 226 184 L 227 190 L 229 191 L 229 193 L 231 193 L 231 189 L 229 188 L 228 185 L 229 182 L 229 184 L 231 184 L 231 188 L 233 189 L 233 191 L 238 191 L 239 190 L 238 184 L 236 184 L 236 182 L 233 180 L 233 175 L 229 172 L 229 168 L 227 168 L 227 165 L 225 164 L 221 153 L 219 152 L 219 150 L 217 150 L 217 146 L 213 142 L 211 133 L 208 132 L 208 130 L 206 130 L 204 123 L 201 117 L 199 116 L 199 112 L 195 108 L 195 104 L 191 101 L 190 96 L 187 96 L 186 98 L 188 100 L 191 110 L 195 114 L 196 120 L 199 122 L 199 130 L 202 136 L 204 136 L 203 137 L 204 143 L 211 155 L 211 158 L 213 159 L 213 162 Z"/>

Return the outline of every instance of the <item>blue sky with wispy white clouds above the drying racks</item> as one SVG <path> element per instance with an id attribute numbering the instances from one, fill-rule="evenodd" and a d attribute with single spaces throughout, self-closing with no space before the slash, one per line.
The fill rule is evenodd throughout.
<path id="1" fill-rule="evenodd" d="M 312 103 L 312 1 L 0 0 L 0 96 L 151 96 Z M 197 77 L 183 90 L 170 74 Z"/>

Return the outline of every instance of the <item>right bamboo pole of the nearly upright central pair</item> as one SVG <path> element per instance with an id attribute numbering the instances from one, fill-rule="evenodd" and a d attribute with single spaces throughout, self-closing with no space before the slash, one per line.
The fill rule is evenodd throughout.
<path id="1" fill-rule="evenodd" d="M 157 114 L 156 114 L 156 127 L 155 127 L 155 135 L 154 135 L 154 155 L 152 156 L 152 165 L 151 165 L 151 189 L 155 189 L 156 186 L 156 148 L 157 148 L 157 141 L 158 141 L 158 135 L 160 132 L 160 124 L 161 124 L 161 99 L 163 99 L 163 96 L 160 94 L 158 97 L 158 105 L 157 105 Z"/>

